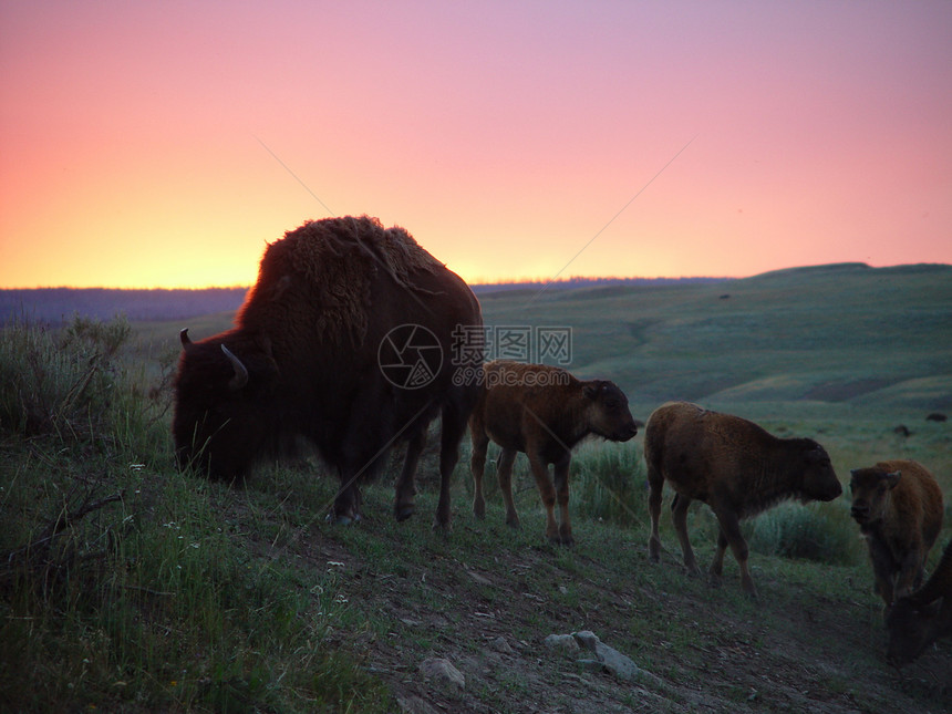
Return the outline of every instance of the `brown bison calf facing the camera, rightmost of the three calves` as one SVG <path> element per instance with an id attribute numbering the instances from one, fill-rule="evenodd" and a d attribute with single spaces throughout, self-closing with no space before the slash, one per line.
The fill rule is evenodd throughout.
<path id="1" fill-rule="evenodd" d="M 880 462 L 850 473 L 850 513 L 869 546 L 876 591 L 890 606 L 922 583 L 942 528 L 942 489 L 915 462 Z"/>

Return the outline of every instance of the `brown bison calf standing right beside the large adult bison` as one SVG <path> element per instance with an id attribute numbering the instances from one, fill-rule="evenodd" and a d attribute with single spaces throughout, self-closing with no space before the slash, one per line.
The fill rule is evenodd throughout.
<path id="1" fill-rule="evenodd" d="M 572 447 L 584 436 L 597 434 L 613 442 L 627 442 L 638 433 L 628 408 L 628 399 L 613 383 L 602 380 L 582 382 L 566 370 L 544 364 L 521 364 L 497 360 L 485 365 L 485 389 L 469 416 L 473 437 L 470 462 L 475 495 L 473 513 L 483 518 L 483 470 L 489 441 L 503 447 L 497 462 L 499 487 L 506 503 L 506 522 L 519 526 L 513 503 L 513 462 L 522 452 L 542 504 L 546 506 L 546 535 L 549 540 L 571 545 L 569 520 L 569 463 Z M 555 465 L 555 487 L 549 478 Z M 556 525 L 558 497 L 561 525 Z"/>

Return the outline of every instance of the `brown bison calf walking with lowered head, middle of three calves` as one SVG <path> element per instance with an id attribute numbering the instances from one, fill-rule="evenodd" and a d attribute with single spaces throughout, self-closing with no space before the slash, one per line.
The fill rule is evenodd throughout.
<path id="1" fill-rule="evenodd" d="M 668 479 L 675 491 L 672 518 L 689 572 L 700 575 L 687 540 L 687 506 L 696 498 L 711 507 L 721 526 L 712 580 L 720 582 L 729 545 L 741 567 L 741 584 L 751 596 L 757 590 L 747 570 L 739 521 L 787 498 L 832 500 L 842 493 L 829 456 L 815 441 L 777 438 L 753 422 L 686 402 L 664 404 L 648 420 L 644 461 L 651 487 L 651 559 L 658 561 L 661 555 L 658 520 Z"/>

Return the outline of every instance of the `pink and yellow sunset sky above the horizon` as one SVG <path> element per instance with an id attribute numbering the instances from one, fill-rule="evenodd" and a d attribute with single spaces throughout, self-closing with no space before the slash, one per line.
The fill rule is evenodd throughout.
<path id="1" fill-rule="evenodd" d="M 952 2 L 0 0 L 0 288 L 952 262 Z M 581 252 L 580 252 L 581 251 Z"/>

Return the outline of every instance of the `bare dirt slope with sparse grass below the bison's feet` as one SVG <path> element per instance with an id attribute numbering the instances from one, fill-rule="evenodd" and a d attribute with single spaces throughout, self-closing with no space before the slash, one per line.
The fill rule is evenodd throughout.
<path id="1" fill-rule="evenodd" d="M 372 515 L 355 527 L 312 519 L 273 555 L 334 573 L 346 604 L 329 644 L 355 652 L 387 684 L 390 711 L 952 711 L 952 642 L 902 671 L 887 665 L 881 608 L 862 568 L 755 553 L 760 597 L 751 601 L 729 559 L 713 588 L 689 578 L 672 550 L 649 563 L 638 529 L 577 522 L 567 549 L 545 541 L 538 514 L 514 531 L 501 513 L 478 521 L 457 501 L 445 536 L 431 530 L 425 499 L 395 524 L 387 489 L 369 495 Z M 643 676 L 621 681 L 545 644 L 581 630 Z M 448 660 L 465 685 L 424 676 L 431 658 Z"/>

